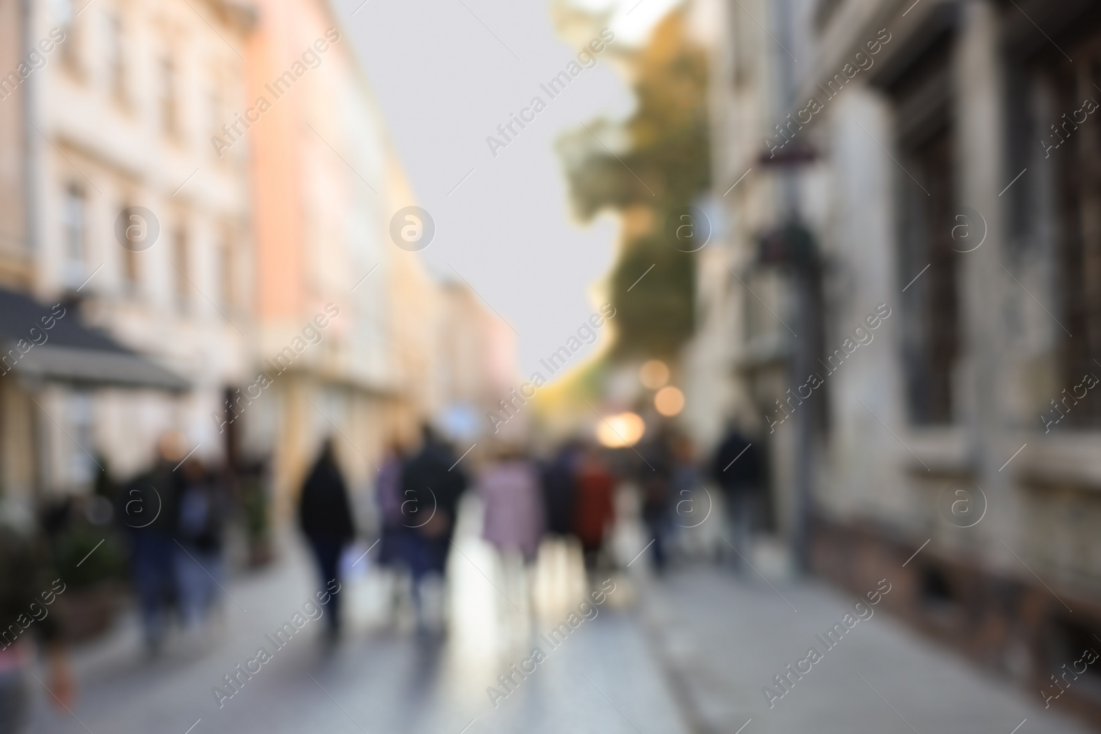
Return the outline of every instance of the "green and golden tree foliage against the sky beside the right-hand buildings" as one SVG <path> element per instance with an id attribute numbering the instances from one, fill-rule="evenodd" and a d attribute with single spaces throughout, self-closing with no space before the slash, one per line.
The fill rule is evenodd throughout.
<path id="1" fill-rule="evenodd" d="M 695 326 L 695 261 L 666 239 L 665 222 L 710 184 L 707 57 L 678 12 L 655 29 L 630 69 L 637 100 L 631 118 L 571 131 L 558 150 L 582 221 L 611 209 L 625 222 L 643 222 L 624 226 L 611 273 L 613 354 L 673 355 Z"/>

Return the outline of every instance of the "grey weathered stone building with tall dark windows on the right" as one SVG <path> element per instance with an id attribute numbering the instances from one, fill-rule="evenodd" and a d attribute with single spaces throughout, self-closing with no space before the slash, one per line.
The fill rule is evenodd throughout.
<path id="1" fill-rule="evenodd" d="M 705 4 L 734 277 L 701 297 L 780 529 L 805 508 L 814 568 L 1058 694 L 1101 634 L 1095 3 Z"/>

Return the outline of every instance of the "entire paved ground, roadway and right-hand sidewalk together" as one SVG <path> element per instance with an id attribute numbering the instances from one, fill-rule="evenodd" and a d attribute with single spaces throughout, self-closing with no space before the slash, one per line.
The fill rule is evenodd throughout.
<path id="1" fill-rule="evenodd" d="M 457 547 L 469 558 L 455 562 L 470 567 L 455 574 L 455 599 L 492 615 L 503 583 L 492 554 L 469 534 Z M 657 579 L 640 560 L 640 572 L 618 577 L 617 593 L 629 601 L 565 640 L 499 708 L 486 688 L 508 667 L 508 655 L 498 661 L 492 653 L 506 631 L 487 616 L 468 617 L 468 628 L 453 627 L 449 640 L 380 627 L 384 588 L 372 569 L 349 581 L 351 618 L 339 648 L 328 648 L 318 631 L 295 637 L 272 670 L 265 666 L 219 709 L 211 687 L 263 642 L 259 631 L 277 628 L 309 594 L 305 555 L 297 544 L 290 548 L 285 562 L 227 584 L 248 611 L 222 599 L 224 618 L 210 638 L 176 639 L 163 658 L 142 661 L 138 626 L 127 622 L 85 646 L 75 655 L 84 681 L 75 715 L 46 705 L 48 694 L 40 687 L 31 731 L 183 734 L 198 722 L 195 734 L 1009 734 L 1025 720 L 1024 731 L 1089 731 L 1057 705 L 1045 711 L 1038 695 L 1022 698 L 1009 681 L 975 675 L 952 650 L 885 614 L 861 622 L 827 653 L 825 669 L 815 666 L 770 709 L 761 689 L 775 688 L 771 677 L 808 646 L 820 647 L 815 636 L 840 620 L 851 601 L 824 583 L 785 579 L 777 569 L 766 581 L 702 561 Z M 469 645 L 459 654 L 457 646 L 471 638 L 482 655 L 471 654 Z M 545 647 L 534 637 L 531 644 Z M 527 647 L 519 645 L 514 659 Z"/>

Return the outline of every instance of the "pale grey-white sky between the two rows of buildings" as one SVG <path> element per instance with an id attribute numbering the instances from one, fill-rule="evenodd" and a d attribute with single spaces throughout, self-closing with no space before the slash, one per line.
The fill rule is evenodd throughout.
<path id="1" fill-rule="evenodd" d="M 553 100 L 539 89 L 577 53 L 555 34 L 548 1 L 335 2 L 436 222 L 422 253 L 428 267 L 449 277 L 454 267 L 515 328 L 517 365 L 530 374 L 593 311 L 618 229 L 610 216 L 571 219 L 554 141 L 596 117 L 629 114 L 629 89 L 603 59 Z M 631 44 L 676 0 L 575 3 L 613 8 L 615 43 Z M 536 95 L 547 109 L 494 157 L 486 138 Z"/>

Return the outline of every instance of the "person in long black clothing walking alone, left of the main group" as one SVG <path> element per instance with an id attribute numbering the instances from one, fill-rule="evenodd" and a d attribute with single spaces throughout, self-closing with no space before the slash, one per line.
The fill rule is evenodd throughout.
<path id="1" fill-rule="evenodd" d="M 309 541 L 321 576 L 321 587 L 331 591 L 334 581 L 339 590 L 340 554 L 356 536 L 340 467 L 333 450 L 333 438 L 321 443 L 320 456 L 309 470 L 302 485 L 298 500 L 298 526 Z M 323 604 L 328 620 L 329 636 L 340 632 L 340 594 L 333 591 L 329 601 Z"/>

